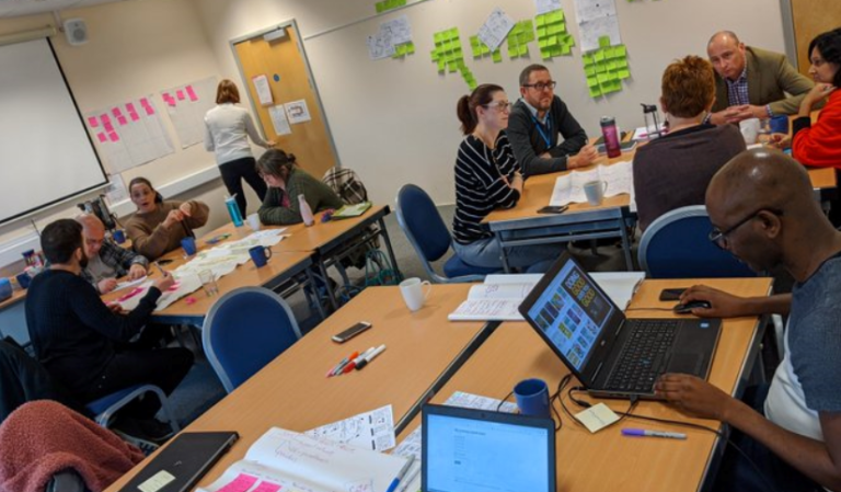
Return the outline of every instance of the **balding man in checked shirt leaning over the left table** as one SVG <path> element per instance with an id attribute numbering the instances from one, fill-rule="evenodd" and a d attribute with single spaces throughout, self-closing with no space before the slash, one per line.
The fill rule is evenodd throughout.
<path id="1" fill-rule="evenodd" d="M 88 255 L 88 266 L 81 275 L 100 294 L 114 290 L 119 277 L 128 275 L 129 281 L 135 281 L 146 276 L 149 260 L 106 239 L 105 226 L 99 217 L 83 214 L 76 221 L 82 225 L 84 253 Z"/>

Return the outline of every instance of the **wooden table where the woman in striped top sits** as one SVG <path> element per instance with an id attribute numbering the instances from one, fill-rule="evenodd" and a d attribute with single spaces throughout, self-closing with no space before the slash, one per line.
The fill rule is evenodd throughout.
<path id="1" fill-rule="evenodd" d="M 576 171 L 632 161 L 634 153 L 635 150 L 631 150 L 612 159 L 602 155 L 591 167 Z M 598 206 L 586 202 L 572 203 L 562 214 L 538 213 L 549 205 L 557 178 L 576 171 L 529 178 L 523 184 L 522 196 L 514 208 L 493 210 L 482 220 L 484 227 L 491 230 L 499 242 L 503 251 L 503 267 L 506 272 L 510 272 L 507 258 L 509 248 L 600 238 L 619 238 L 625 266 L 629 271 L 634 270 L 634 260 L 631 254 L 633 238 L 629 233 L 629 226 L 636 224 L 636 210 L 632 207 L 629 194 L 604 197 Z M 826 204 L 838 187 L 834 168 L 810 168 L 808 173 L 815 190 L 815 198 Z"/>

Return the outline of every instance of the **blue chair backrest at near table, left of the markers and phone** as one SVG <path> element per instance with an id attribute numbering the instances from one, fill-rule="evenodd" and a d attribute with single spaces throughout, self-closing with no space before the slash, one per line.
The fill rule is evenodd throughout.
<path id="1" fill-rule="evenodd" d="M 229 393 L 301 337 L 286 301 L 263 287 L 222 296 L 201 327 L 207 359 Z"/>

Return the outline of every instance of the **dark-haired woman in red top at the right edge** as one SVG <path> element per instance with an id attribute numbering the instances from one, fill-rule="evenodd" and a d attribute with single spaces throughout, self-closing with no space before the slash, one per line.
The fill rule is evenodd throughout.
<path id="1" fill-rule="evenodd" d="M 800 102 L 793 123 L 792 153 L 804 165 L 841 169 L 841 28 L 818 35 L 809 43 L 809 75 L 815 87 Z M 829 95 L 815 126 L 811 108 Z"/>

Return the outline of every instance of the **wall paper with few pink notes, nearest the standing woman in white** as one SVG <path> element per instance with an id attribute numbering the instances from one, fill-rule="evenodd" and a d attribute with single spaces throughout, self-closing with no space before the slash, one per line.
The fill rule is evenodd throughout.
<path id="1" fill-rule="evenodd" d="M 161 91 L 182 149 L 204 141 L 205 114 L 216 105 L 216 77 L 208 77 Z"/>

